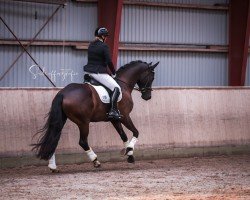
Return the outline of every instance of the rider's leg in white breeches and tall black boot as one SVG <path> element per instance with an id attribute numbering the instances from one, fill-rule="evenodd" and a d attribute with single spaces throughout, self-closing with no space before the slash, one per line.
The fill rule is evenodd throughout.
<path id="1" fill-rule="evenodd" d="M 105 85 L 107 88 L 109 88 L 112 91 L 112 94 L 110 96 L 110 104 L 111 108 L 108 113 L 109 118 L 113 119 L 120 119 L 121 115 L 117 108 L 117 100 L 119 95 L 121 95 L 121 88 L 117 84 L 117 82 L 108 74 L 91 74 L 97 81 Z"/>

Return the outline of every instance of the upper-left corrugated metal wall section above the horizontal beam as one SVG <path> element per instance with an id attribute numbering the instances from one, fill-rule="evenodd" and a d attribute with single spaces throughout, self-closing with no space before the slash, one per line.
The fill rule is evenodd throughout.
<path id="1" fill-rule="evenodd" d="M 0 2 L 0 13 L 18 38 L 30 39 L 57 7 L 51 4 L 5 1 Z M 89 41 L 93 38 L 92 33 L 96 26 L 96 4 L 68 2 L 56 13 L 37 39 Z M 0 29 L 0 38 L 14 39 L 2 23 Z"/>

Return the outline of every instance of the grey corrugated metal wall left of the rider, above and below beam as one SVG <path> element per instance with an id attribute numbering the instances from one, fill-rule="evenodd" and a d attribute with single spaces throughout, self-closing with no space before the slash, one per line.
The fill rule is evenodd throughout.
<path id="1" fill-rule="evenodd" d="M 0 12 L 6 23 L 20 39 L 31 39 L 39 31 L 57 5 L 0 2 Z M 37 14 L 36 14 L 37 13 Z M 97 26 L 97 6 L 93 3 L 68 2 L 61 8 L 37 37 L 38 40 L 90 41 Z M 0 38 L 14 39 L 0 23 Z M 3 30 L 3 31 L 2 31 Z M 18 46 L 0 46 L 0 75 L 21 53 Z M 71 82 L 82 82 L 82 66 L 87 52 L 71 47 L 30 47 L 29 52 L 58 87 Z M 50 87 L 50 82 L 33 66 L 35 63 L 24 53 L 0 82 L 0 87 Z"/>

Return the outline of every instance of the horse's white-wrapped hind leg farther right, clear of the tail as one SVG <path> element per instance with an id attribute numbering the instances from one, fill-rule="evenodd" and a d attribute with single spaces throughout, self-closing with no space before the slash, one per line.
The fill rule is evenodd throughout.
<path id="1" fill-rule="evenodd" d="M 93 162 L 94 167 L 100 167 L 101 163 L 97 160 L 97 155 L 88 144 L 89 123 L 81 124 L 78 127 L 80 130 L 79 145 L 84 149 L 88 158 Z"/>

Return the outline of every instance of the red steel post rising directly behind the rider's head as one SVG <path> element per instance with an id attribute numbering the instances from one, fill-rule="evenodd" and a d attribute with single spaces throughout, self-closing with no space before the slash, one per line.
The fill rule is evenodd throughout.
<path id="1" fill-rule="evenodd" d="M 109 31 L 107 44 L 114 66 L 117 64 L 123 0 L 99 0 L 98 24 Z"/>

